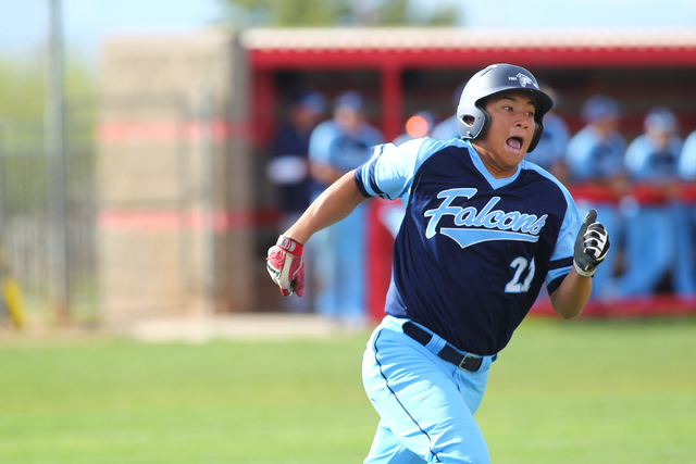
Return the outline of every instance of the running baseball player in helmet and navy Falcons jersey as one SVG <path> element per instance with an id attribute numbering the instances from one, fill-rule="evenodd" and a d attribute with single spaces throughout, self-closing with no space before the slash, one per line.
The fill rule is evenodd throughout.
<path id="1" fill-rule="evenodd" d="M 363 358 L 380 413 L 365 463 L 488 463 L 473 418 L 488 368 L 544 283 L 554 309 L 577 316 L 609 240 L 591 211 L 524 154 L 551 99 L 532 74 L 496 64 L 476 73 L 457 110 L 461 139 L 380 145 L 269 250 L 284 294 L 303 292 L 302 244 L 366 198 L 407 211 L 394 249 L 387 315 Z"/>

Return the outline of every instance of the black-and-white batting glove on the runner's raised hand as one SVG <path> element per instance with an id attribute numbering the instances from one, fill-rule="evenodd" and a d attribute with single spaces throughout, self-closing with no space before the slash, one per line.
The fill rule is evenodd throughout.
<path id="1" fill-rule="evenodd" d="M 609 250 L 609 235 L 597 221 L 597 210 L 589 210 L 575 238 L 573 265 L 583 277 L 592 277 Z"/>

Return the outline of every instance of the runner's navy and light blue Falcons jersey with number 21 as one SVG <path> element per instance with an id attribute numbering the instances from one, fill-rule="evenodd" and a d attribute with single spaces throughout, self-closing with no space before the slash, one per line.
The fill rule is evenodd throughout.
<path id="1" fill-rule="evenodd" d="M 542 285 L 554 292 L 572 268 L 577 209 L 533 163 L 496 179 L 471 142 L 421 138 L 376 146 L 356 183 L 365 197 L 398 198 L 407 209 L 385 312 L 460 350 L 500 351 Z"/>

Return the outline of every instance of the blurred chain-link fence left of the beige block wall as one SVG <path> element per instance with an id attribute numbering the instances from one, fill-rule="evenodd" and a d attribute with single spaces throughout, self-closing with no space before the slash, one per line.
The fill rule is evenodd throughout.
<path id="1" fill-rule="evenodd" d="M 74 109 L 65 128 L 65 276 L 70 317 L 95 321 L 96 148 L 94 111 Z M 50 322 L 50 163 L 40 121 L 0 122 L 0 247 L 30 319 Z"/>

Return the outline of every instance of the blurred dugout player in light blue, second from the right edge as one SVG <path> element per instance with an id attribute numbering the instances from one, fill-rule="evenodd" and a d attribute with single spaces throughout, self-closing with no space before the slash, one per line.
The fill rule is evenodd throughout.
<path id="1" fill-rule="evenodd" d="M 671 271 L 673 292 L 689 296 L 696 291 L 696 278 L 688 211 L 676 191 L 682 153 L 676 116 L 663 106 L 654 108 L 645 116 L 644 129 L 629 146 L 625 165 L 633 183 L 650 187 L 651 198 L 626 212 L 627 263 L 618 280 L 619 294 L 651 294 Z M 644 260 L 651 265 L 642 265 Z"/>

